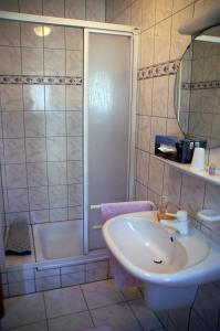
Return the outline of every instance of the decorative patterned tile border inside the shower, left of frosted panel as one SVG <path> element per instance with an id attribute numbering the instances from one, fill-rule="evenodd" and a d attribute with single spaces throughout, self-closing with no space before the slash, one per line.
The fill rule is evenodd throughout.
<path id="1" fill-rule="evenodd" d="M 0 84 L 82 85 L 83 77 L 0 75 Z"/>

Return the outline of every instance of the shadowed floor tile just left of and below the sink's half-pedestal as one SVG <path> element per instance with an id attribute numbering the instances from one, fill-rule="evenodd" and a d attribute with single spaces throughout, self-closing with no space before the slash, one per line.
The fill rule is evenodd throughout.
<path id="1" fill-rule="evenodd" d="M 144 299 L 129 301 L 129 306 L 145 331 L 161 328 L 158 318 L 146 307 Z"/>

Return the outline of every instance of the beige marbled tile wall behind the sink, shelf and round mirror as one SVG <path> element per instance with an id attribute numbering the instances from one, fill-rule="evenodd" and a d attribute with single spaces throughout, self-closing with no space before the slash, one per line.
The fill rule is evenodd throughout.
<path id="1" fill-rule="evenodd" d="M 182 174 L 154 157 L 155 135 L 181 136 L 174 109 L 175 75 L 172 71 L 161 70 L 158 64 L 165 63 L 169 67 L 169 62 L 181 58 L 190 38 L 179 35 L 178 26 L 217 3 L 218 0 L 106 1 L 108 22 L 140 26 L 139 68 L 149 67 L 155 73 L 138 81 L 136 197 L 149 199 L 159 204 L 161 195 L 166 195 L 169 201 L 187 210 L 192 217 L 202 207 L 220 212 L 220 188 Z M 157 74 L 158 71 L 163 74 Z M 210 150 L 208 157 L 220 166 L 220 149 Z M 202 228 L 220 243 L 220 225 Z M 189 310 L 160 313 L 166 329 L 219 330 L 218 285 L 200 287 L 189 329 Z"/>

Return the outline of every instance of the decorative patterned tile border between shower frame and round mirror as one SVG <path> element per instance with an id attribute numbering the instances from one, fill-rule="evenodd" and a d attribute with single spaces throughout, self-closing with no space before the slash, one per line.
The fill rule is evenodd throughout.
<path id="1" fill-rule="evenodd" d="M 142 81 L 154 77 L 175 75 L 179 68 L 180 61 L 181 60 L 178 58 L 140 68 L 137 73 L 137 79 Z"/>

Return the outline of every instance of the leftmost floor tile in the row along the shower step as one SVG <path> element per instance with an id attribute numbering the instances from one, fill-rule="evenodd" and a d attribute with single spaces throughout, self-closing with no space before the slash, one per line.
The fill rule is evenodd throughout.
<path id="1" fill-rule="evenodd" d="M 2 329 L 18 328 L 45 319 L 45 309 L 42 293 L 14 297 L 4 300 L 6 316 L 2 319 Z"/>

